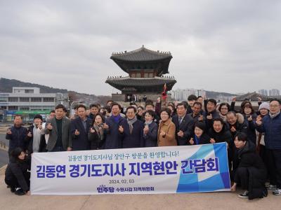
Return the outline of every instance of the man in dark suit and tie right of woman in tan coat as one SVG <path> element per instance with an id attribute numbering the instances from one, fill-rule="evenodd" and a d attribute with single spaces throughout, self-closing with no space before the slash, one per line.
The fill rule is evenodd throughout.
<path id="1" fill-rule="evenodd" d="M 176 141 L 179 146 L 188 145 L 188 139 L 192 135 L 193 119 L 187 114 L 187 106 L 184 103 L 179 103 L 176 106 L 176 116 L 172 118 L 176 125 Z"/>

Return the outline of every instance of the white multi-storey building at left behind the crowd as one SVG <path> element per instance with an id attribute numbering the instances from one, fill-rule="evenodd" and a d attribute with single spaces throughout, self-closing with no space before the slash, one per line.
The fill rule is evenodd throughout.
<path id="1" fill-rule="evenodd" d="M 0 93 L 0 120 L 11 122 L 16 114 L 24 122 L 31 122 L 36 114 L 46 118 L 57 104 L 69 107 L 68 94 L 40 93 L 39 87 L 13 87 L 11 93 Z"/>

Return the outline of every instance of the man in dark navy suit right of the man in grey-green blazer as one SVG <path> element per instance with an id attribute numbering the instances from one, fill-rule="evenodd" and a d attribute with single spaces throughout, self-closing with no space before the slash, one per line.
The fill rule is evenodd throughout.
<path id="1" fill-rule="evenodd" d="M 88 132 L 91 119 L 86 116 L 86 106 L 80 104 L 77 108 L 78 118 L 71 121 L 72 151 L 86 151 L 90 149 Z"/>

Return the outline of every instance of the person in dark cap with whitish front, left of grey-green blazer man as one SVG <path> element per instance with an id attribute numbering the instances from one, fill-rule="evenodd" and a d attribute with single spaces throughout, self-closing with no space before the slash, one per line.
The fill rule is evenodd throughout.
<path id="1" fill-rule="evenodd" d="M 27 142 L 27 152 L 28 154 L 38 153 L 42 151 L 44 147 L 44 127 L 42 126 L 43 118 L 41 115 L 35 115 L 33 118 L 33 125 L 28 128 L 27 137 L 25 141 Z"/>

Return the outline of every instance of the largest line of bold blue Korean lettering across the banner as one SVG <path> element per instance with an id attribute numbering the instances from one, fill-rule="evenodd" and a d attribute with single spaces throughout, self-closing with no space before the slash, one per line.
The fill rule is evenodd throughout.
<path id="1" fill-rule="evenodd" d="M 70 177 L 81 176 L 161 176 L 178 173 L 176 161 L 155 161 L 155 162 L 129 162 L 129 167 L 125 163 L 110 164 L 87 164 L 87 165 L 38 165 L 37 178 L 65 178 L 66 172 Z M 218 172 L 218 158 L 192 159 L 181 161 L 182 174 L 197 174 L 203 172 Z"/>

